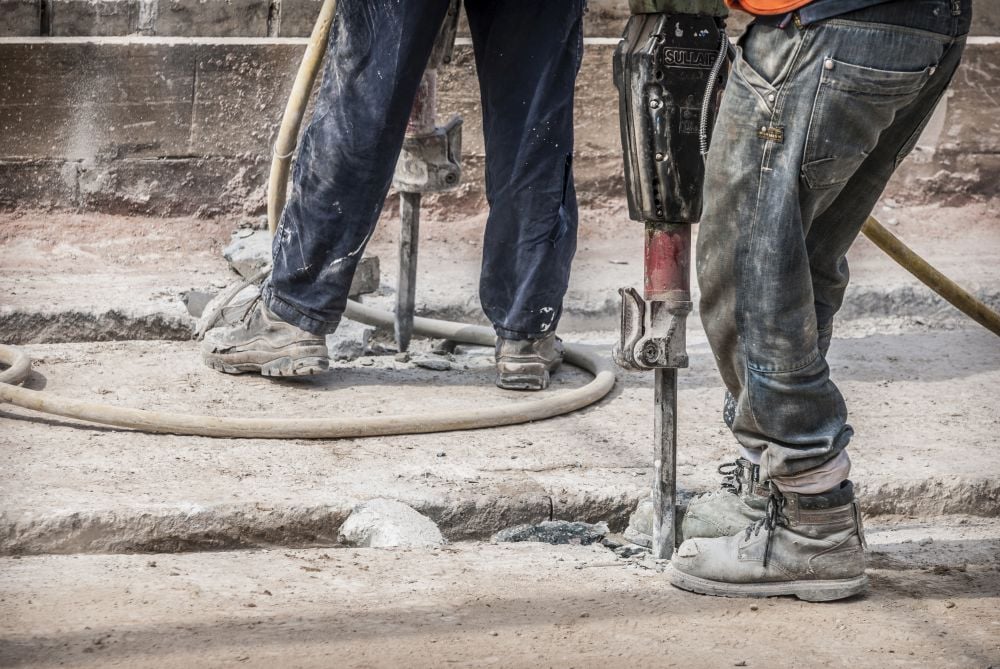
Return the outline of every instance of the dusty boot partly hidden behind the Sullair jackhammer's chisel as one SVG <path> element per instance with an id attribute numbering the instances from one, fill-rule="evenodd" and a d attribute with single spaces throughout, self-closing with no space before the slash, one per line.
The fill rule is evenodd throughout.
<path id="1" fill-rule="evenodd" d="M 770 495 L 767 483 L 761 483 L 760 467 L 745 458 L 719 466 L 723 476 L 718 490 L 702 493 L 687 505 L 679 528 L 679 538 L 725 537 L 735 534 L 764 516 Z M 629 517 L 625 538 L 634 544 L 653 545 L 653 500 L 639 502 Z"/>

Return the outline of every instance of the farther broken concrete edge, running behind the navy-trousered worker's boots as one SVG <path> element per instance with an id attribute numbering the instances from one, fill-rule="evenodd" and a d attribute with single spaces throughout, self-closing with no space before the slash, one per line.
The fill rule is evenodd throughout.
<path id="1" fill-rule="evenodd" d="M 364 265 L 366 261 L 362 261 Z M 378 263 L 371 261 L 357 285 L 351 287 L 352 297 L 358 290 L 377 286 Z M 1000 309 L 1000 287 L 981 288 L 975 296 L 993 309 Z M 20 308 L 0 308 L 0 343 L 11 345 L 59 344 L 93 341 L 127 341 L 160 339 L 186 341 L 191 339 L 197 321 L 186 313 L 182 295 L 177 296 L 177 308 L 162 312 L 130 312 L 110 309 L 103 312 L 85 310 L 25 311 Z M 380 306 L 376 296 L 371 304 Z M 388 299 L 388 298 L 384 298 Z M 383 304 L 391 310 L 391 305 Z M 461 304 L 427 304 L 418 308 L 420 316 L 442 320 L 489 325 L 479 306 L 471 297 Z M 697 311 L 697 309 L 696 309 Z M 893 317 L 910 319 L 924 326 L 978 327 L 964 314 L 920 284 L 892 289 L 879 287 L 848 287 L 844 306 L 837 315 L 843 324 L 857 319 Z M 563 332 L 583 330 L 616 330 L 621 318 L 618 298 L 610 293 L 604 299 L 573 301 L 563 307 Z"/>

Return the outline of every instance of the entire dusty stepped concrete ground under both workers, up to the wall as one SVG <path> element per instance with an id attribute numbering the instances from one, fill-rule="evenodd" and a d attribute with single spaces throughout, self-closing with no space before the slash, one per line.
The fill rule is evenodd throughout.
<path id="1" fill-rule="evenodd" d="M 478 318 L 482 203 L 431 199 L 418 308 Z M 876 212 L 994 306 L 998 203 L 885 201 Z M 369 251 L 395 285 L 391 206 Z M 639 282 L 620 201 L 581 215 L 561 328 L 607 353 L 614 288 Z M 130 227 L 124 227 L 128 225 Z M 27 386 L 213 415 L 314 416 L 530 401 L 492 385 L 490 352 L 431 371 L 355 350 L 304 381 L 202 366 L 181 294 L 233 279 L 233 221 L 22 213 L 0 219 L 0 340 L 35 359 Z M 127 230 L 129 234 L 123 234 Z M 1000 665 L 1000 346 L 865 240 L 830 355 L 857 436 L 869 595 L 830 605 L 718 600 L 671 588 L 663 564 L 597 547 L 492 545 L 550 518 L 620 529 L 648 494 L 651 378 L 532 425 L 339 441 L 145 435 L 0 407 L 2 666 L 988 667 Z M 734 457 L 697 318 L 681 373 L 679 482 L 718 485 Z M 361 328 L 335 336 L 360 341 Z M 111 341 L 109 341 L 111 340 Z M 115 341 L 121 340 L 121 341 Z M 387 343 L 386 340 L 380 340 Z M 357 345 L 354 346 L 357 349 Z M 350 350 L 348 346 L 344 350 Z M 555 376 L 551 392 L 585 383 Z M 402 500 L 453 543 L 346 549 L 358 502 Z M 238 550 L 225 550 L 238 549 Z"/>

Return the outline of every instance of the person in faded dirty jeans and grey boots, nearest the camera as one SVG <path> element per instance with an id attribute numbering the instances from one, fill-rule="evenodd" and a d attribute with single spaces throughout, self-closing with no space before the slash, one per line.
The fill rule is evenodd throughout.
<path id="1" fill-rule="evenodd" d="M 826 361 L 846 254 L 958 67 L 971 0 L 729 4 L 758 16 L 712 136 L 697 268 L 741 457 L 690 503 L 671 580 L 839 599 L 867 583 Z"/>

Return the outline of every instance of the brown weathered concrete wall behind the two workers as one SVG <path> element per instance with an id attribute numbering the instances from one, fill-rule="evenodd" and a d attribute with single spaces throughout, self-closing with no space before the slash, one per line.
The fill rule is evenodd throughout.
<path id="1" fill-rule="evenodd" d="M 218 32 L 233 29 L 228 20 L 239 15 L 253 18 L 240 30 L 252 24 L 259 37 L 268 32 L 271 10 L 261 8 L 270 1 L 159 0 L 155 26 Z M 97 30 L 95 21 L 126 30 L 153 16 L 148 4 L 156 0 L 0 0 L 0 15 L 11 19 L 0 25 L 27 25 L 43 3 L 53 20 L 59 12 L 87 17 L 72 24 L 80 30 Z M 286 19 L 298 16 L 300 28 L 308 27 L 318 3 L 282 0 L 280 26 L 291 30 Z M 619 4 L 592 0 L 588 31 L 615 22 L 620 29 Z M 299 40 L 253 36 L 0 38 L 0 207 L 258 215 L 271 142 L 303 48 Z M 580 73 L 575 170 L 582 199 L 621 193 L 612 51 L 588 45 Z M 440 86 L 442 122 L 453 113 L 465 119 L 463 181 L 478 189 L 484 156 L 469 47 L 457 48 Z M 973 44 L 895 187 L 916 199 L 995 194 L 997 100 L 1000 43 Z"/>

